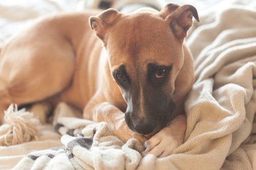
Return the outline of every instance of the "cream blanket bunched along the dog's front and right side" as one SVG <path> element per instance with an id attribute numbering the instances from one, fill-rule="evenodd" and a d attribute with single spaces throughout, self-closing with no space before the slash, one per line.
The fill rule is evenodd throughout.
<path id="1" fill-rule="evenodd" d="M 185 103 L 185 141 L 172 155 L 142 158 L 138 140 L 123 143 L 105 123 L 60 103 L 53 120 L 60 135 L 44 125 L 37 141 L 0 147 L 0 167 L 23 157 L 14 169 L 256 169 L 256 3 L 232 3 L 199 12 L 190 30 L 196 82 Z"/>

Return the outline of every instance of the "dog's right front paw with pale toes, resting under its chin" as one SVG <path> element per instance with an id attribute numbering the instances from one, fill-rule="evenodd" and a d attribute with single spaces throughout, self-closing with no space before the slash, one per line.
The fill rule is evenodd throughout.
<path id="1" fill-rule="evenodd" d="M 186 116 L 178 115 L 167 127 L 144 142 L 142 156 L 153 154 L 162 158 L 172 154 L 182 144 L 185 130 Z"/>

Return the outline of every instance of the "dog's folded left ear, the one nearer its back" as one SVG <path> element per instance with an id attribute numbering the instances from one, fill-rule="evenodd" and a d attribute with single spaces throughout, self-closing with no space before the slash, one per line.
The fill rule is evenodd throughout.
<path id="1" fill-rule="evenodd" d="M 114 25 L 120 15 L 120 12 L 110 8 L 99 13 L 97 16 L 89 18 L 91 29 L 95 31 L 95 34 L 102 40 L 105 47 L 108 40 L 108 29 Z"/>

